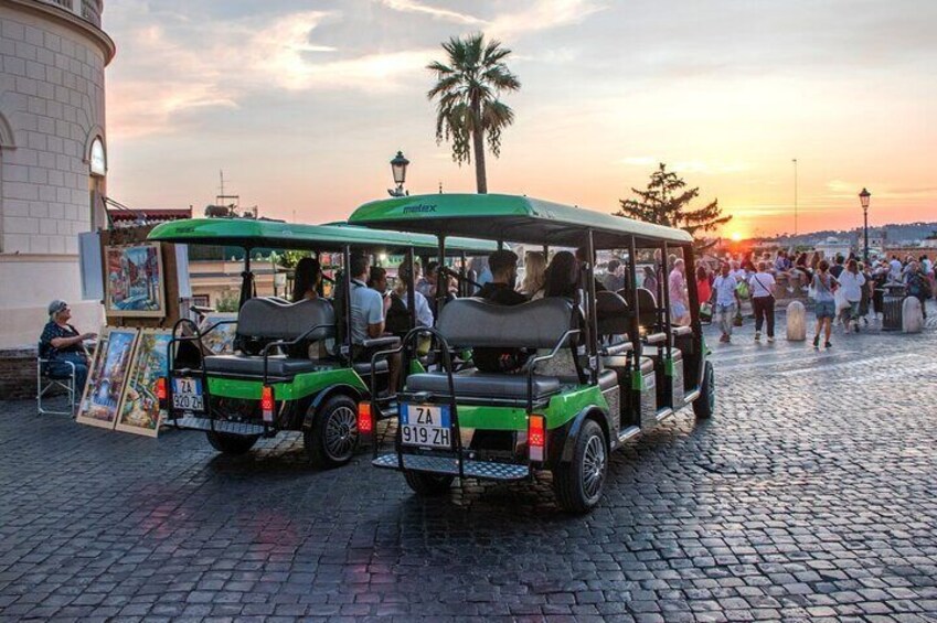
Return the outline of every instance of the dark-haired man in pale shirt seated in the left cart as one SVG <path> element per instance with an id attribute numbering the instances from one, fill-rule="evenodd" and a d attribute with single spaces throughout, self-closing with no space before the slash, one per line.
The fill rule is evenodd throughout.
<path id="1" fill-rule="evenodd" d="M 376 351 L 386 350 L 386 345 L 369 348 L 364 345 L 368 340 L 384 335 L 384 297 L 368 287 L 371 272 L 371 260 L 366 255 L 351 256 L 349 271 L 351 276 L 351 358 L 355 362 L 371 362 Z M 397 386 L 400 378 L 400 355 L 388 357 L 387 365 L 390 387 Z"/>

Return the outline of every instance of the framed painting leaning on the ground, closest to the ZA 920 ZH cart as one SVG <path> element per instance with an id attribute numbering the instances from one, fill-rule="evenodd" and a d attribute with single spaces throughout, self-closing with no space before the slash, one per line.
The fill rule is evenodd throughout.
<path id="1" fill-rule="evenodd" d="M 143 329 L 130 363 L 127 388 L 117 410 L 117 425 L 124 432 L 147 437 L 159 433 L 160 411 L 156 385 L 160 377 L 169 376 L 169 342 L 172 332 L 163 329 Z"/>

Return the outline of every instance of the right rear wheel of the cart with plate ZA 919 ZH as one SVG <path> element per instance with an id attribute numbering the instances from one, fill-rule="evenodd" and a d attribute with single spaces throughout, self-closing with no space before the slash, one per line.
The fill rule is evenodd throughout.
<path id="1" fill-rule="evenodd" d="M 553 469 L 553 493 L 564 511 L 582 515 L 601 500 L 608 471 L 608 444 L 595 420 L 583 422 L 575 443 L 573 460 Z"/>

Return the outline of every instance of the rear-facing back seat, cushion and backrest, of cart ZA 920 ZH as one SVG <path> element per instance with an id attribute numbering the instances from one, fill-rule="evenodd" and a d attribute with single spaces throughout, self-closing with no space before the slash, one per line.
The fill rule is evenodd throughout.
<path id="1" fill-rule="evenodd" d="M 309 333 L 310 330 L 315 331 Z M 308 333 L 308 334 L 307 334 Z M 237 314 L 236 343 L 241 354 L 204 357 L 206 372 L 236 376 L 264 375 L 264 348 L 275 342 L 298 344 L 285 348 L 291 353 L 306 353 L 304 345 L 318 340 L 328 340 L 336 335 L 336 313 L 332 304 L 324 299 L 304 300 L 297 303 L 284 303 L 276 299 L 249 299 Z M 308 357 L 289 356 L 271 351 L 267 356 L 267 375 L 290 378 L 297 374 L 313 372 L 326 362 L 311 361 Z"/>

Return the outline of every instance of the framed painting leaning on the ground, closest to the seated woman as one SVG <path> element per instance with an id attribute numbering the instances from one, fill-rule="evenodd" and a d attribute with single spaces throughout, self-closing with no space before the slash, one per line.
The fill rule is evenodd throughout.
<path id="1" fill-rule="evenodd" d="M 124 396 L 130 362 L 137 346 L 137 329 L 105 329 L 98 340 L 85 393 L 78 405 L 76 421 L 102 428 L 114 428 L 117 408 Z"/>

